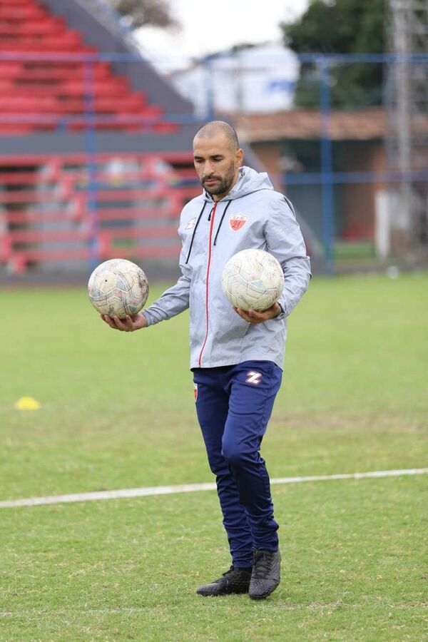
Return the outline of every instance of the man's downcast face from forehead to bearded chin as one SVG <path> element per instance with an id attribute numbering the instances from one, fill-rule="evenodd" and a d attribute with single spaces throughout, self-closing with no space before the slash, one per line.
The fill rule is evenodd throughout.
<path id="1" fill-rule="evenodd" d="M 193 141 L 193 163 L 200 184 L 213 196 L 214 200 L 223 198 L 238 180 L 238 170 L 243 161 L 242 149 L 233 149 L 224 136 L 199 138 Z"/>

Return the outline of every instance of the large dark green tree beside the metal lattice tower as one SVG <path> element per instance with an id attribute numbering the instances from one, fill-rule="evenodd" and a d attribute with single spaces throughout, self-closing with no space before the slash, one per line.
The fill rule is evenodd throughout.
<path id="1" fill-rule="evenodd" d="M 297 54 L 380 54 L 384 51 L 384 0 L 310 0 L 300 19 L 282 24 L 285 45 Z M 332 105 L 360 107 L 382 103 L 382 66 L 337 64 L 331 68 Z M 295 103 L 319 104 L 316 68 L 302 63 Z"/>

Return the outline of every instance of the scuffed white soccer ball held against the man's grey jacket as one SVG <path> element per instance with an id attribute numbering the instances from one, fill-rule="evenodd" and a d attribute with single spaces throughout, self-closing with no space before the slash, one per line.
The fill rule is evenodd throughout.
<path id="1" fill-rule="evenodd" d="M 264 250 L 242 250 L 223 268 L 221 287 L 235 307 L 263 312 L 282 294 L 284 273 L 272 254 Z"/>

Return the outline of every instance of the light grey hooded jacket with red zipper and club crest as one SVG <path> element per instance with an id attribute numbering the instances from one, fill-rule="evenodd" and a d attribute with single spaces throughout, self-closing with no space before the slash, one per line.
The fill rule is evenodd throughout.
<path id="1" fill-rule="evenodd" d="M 185 205 L 177 283 L 143 313 L 148 325 L 190 307 L 190 368 L 267 360 L 283 367 L 287 322 L 310 280 L 310 261 L 292 205 L 266 173 L 240 168 L 238 181 L 217 203 L 204 193 Z M 241 319 L 221 289 L 225 263 L 240 250 L 274 255 L 284 270 L 278 301 L 283 314 L 263 323 Z"/>

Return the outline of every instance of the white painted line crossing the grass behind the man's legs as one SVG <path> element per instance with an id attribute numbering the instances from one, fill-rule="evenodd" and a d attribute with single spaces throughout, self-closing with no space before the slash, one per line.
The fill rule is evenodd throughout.
<path id="1" fill-rule="evenodd" d="M 301 484 L 303 481 L 331 481 L 334 479 L 367 479 L 369 477 L 401 477 L 402 475 L 425 475 L 428 468 L 410 468 L 404 470 L 377 470 L 364 473 L 345 473 L 336 475 L 312 475 L 310 477 L 278 477 L 271 479 L 271 484 Z M 44 504 L 69 504 L 74 501 L 98 501 L 101 499 L 124 499 L 130 497 L 147 497 L 153 495 L 173 495 L 193 493 L 196 491 L 215 490 L 214 483 L 181 484 L 178 486 L 148 486 L 146 488 L 128 488 L 123 490 L 96 491 L 71 495 L 54 495 L 48 497 L 29 497 L 28 499 L 9 499 L 0 501 L 0 508 L 17 506 L 42 506 Z"/>

